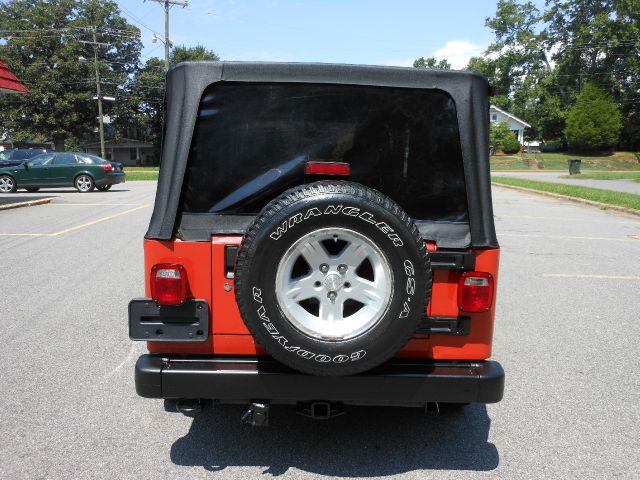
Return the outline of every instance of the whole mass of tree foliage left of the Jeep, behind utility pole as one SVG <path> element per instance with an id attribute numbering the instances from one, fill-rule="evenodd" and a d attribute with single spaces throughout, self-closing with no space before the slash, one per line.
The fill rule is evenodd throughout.
<path id="1" fill-rule="evenodd" d="M 164 62 L 140 65 L 140 31 L 120 15 L 114 0 L 10 0 L 0 3 L 0 54 L 31 91 L 0 96 L 0 125 L 16 142 L 53 140 L 78 149 L 96 140 L 95 29 L 103 102 L 112 120 L 107 138 L 135 137 L 160 150 Z M 86 61 L 79 60 L 80 58 Z M 170 63 L 218 60 L 198 45 L 172 49 Z"/>

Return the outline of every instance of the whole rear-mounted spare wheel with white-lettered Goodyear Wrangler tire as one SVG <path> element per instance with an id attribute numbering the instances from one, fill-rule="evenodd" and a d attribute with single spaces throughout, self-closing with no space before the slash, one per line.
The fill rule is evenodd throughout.
<path id="1" fill-rule="evenodd" d="M 236 299 L 254 338 L 314 375 L 349 375 L 400 350 L 431 292 L 418 229 L 380 192 L 349 182 L 292 188 L 247 230 Z"/>

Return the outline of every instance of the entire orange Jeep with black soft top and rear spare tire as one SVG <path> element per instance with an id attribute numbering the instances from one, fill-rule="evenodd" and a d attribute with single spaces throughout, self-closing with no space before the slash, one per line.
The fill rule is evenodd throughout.
<path id="1" fill-rule="evenodd" d="M 189 62 L 166 100 L 139 395 L 253 425 L 502 398 L 484 77 Z"/>

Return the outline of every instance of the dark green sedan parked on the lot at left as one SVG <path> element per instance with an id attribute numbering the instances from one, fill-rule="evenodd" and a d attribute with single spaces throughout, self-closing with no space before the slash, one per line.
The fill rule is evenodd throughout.
<path id="1" fill-rule="evenodd" d="M 0 193 L 24 188 L 74 186 L 79 192 L 105 191 L 125 181 L 122 164 L 84 152 L 43 153 L 21 165 L 0 168 Z"/>

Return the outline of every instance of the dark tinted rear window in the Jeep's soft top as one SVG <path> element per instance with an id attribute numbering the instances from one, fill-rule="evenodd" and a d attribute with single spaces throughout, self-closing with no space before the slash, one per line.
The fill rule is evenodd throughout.
<path id="1" fill-rule="evenodd" d="M 347 162 L 415 219 L 468 222 L 456 106 L 446 92 L 220 82 L 202 96 L 185 213 L 255 215 L 305 181 L 309 161 Z M 306 181 L 312 181 L 307 178 Z"/>

